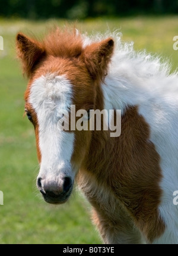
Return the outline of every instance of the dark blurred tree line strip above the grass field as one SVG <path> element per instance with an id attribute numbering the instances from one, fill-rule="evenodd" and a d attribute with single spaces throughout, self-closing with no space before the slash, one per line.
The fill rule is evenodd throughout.
<path id="1" fill-rule="evenodd" d="M 176 14 L 177 11 L 177 0 L 1 0 L 0 15 L 78 19 L 101 15 Z"/>

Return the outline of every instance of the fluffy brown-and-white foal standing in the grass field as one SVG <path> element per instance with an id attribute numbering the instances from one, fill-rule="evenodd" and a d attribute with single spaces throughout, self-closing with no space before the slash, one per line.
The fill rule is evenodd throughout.
<path id="1" fill-rule="evenodd" d="M 178 243 L 176 71 L 118 32 L 55 27 L 41 40 L 19 32 L 16 46 L 45 201 L 63 204 L 77 184 L 103 243 Z M 71 106 L 85 111 L 74 124 L 82 118 L 83 129 L 71 129 L 70 116 L 69 129 L 59 129 Z M 112 118 L 120 110 L 119 136 L 110 136 L 110 121 L 84 129 L 90 110 L 113 110 Z"/>

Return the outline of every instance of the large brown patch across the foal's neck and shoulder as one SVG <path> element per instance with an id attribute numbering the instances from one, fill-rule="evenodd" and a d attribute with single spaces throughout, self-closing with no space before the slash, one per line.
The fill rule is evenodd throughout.
<path id="1" fill-rule="evenodd" d="M 110 138 L 108 133 L 105 143 L 100 137 L 103 133 L 97 133 L 83 166 L 96 176 L 100 184 L 112 188 L 136 226 L 148 242 L 152 242 L 165 229 L 158 213 L 162 177 L 160 156 L 149 141 L 150 128 L 138 114 L 137 107 L 125 111 L 121 129 L 118 138 Z"/>

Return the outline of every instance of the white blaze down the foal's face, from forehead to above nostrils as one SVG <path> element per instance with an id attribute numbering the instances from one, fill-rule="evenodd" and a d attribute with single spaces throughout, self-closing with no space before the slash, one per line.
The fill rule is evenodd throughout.
<path id="1" fill-rule="evenodd" d="M 39 123 L 39 148 L 42 155 L 40 177 L 58 176 L 60 172 L 73 176 L 71 156 L 74 133 L 58 129 L 60 110 L 69 110 L 72 85 L 65 76 L 47 74 L 31 85 L 29 102 Z"/>

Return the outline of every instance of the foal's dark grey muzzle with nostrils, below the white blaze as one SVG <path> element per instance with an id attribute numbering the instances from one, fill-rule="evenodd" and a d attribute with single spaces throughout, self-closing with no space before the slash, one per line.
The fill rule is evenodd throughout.
<path id="1" fill-rule="evenodd" d="M 58 177 L 55 180 L 38 177 L 37 188 L 49 204 L 63 204 L 71 195 L 73 182 L 69 176 Z"/>

